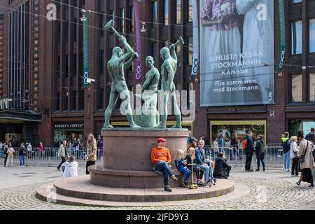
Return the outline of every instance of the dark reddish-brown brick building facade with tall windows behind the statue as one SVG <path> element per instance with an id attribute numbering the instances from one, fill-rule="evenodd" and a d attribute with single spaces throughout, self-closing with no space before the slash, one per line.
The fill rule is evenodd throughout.
<path id="1" fill-rule="evenodd" d="M 274 73 L 275 104 L 224 107 L 201 107 L 200 77 L 190 75 L 193 1 L 138 2 L 135 8 L 132 0 L 1 1 L 0 97 L 3 102 L 9 100 L 9 106 L 1 108 L 0 139 L 15 133 L 25 141 L 51 146 L 55 139 L 76 141 L 90 133 L 100 137 L 111 84 L 106 62 L 111 50 L 122 46 L 112 31 L 104 29 L 111 19 L 135 50 L 141 48 L 141 76 L 135 72 L 139 69 L 136 63 L 125 74 L 130 90 L 144 83 L 146 56 L 152 55 L 160 68 L 160 49 L 183 37 L 185 45 L 176 49 L 179 59 L 174 82 L 177 90 L 195 90 L 195 120 L 184 122 L 194 136 L 205 135 L 214 141 L 220 133 L 242 136 L 246 130 L 254 130 L 273 144 L 279 143 L 286 130 L 296 134 L 315 125 L 314 0 L 285 1 L 286 57 L 283 72 Z M 274 1 L 276 64 L 281 56 L 278 5 Z M 95 82 L 90 85 L 83 82 L 82 8 L 91 10 L 87 13 L 89 67 Z M 56 17 L 48 19 L 54 10 Z M 141 21 L 138 33 L 136 18 Z M 170 116 L 168 125 L 174 120 Z M 127 125 L 119 105 L 111 122 L 116 127 Z"/>

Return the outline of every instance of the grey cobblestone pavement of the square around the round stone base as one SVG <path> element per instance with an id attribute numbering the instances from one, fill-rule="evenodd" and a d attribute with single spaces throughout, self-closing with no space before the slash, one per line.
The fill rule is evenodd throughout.
<path id="1" fill-rule="evenodd" d="M 8 168 L 0 168 L 0 178 L 3 180 L 5 174 L 3 171 Z M 9 168 L 10 169 L 10 168 Z M 43 202 L 35 197 L 36 188 L 43 183 L 52 182 L 54 179 L 58 179 L 59 173 L 56 171 L 48 172 L 48 168 L 28 168 L 29 170 L 21 173 L 19 168 L 14 168 L 15 172 L 20 172 L 13 176 L 9 176 L 6 180 L 7 186 L 0 186 L 0 209 L 134 209 L 134 210 L 187 210 L 187 209 L 199 209 L 199 210 L 217 210 L 217 209 L 315 209 L 315 190 L 314 188 L 307 188 L 307 184 L 304 183 L 301 187 L 295 186 L 296 178 L 291 178 L 290 174 L 279 171 L 267 171 L 253 173 L 245 173 L 241 171 L 235 171 L 231 174 L 231 180 L 236 183 L 241 183 L 248 186 L 251 192 L 237 199 L 230 198 L 229 200 L 216 201 L 211 203 L 200 203 L 190 205 L 178 205 L 167 207 L 78 207 L 67 206 L 62 204 L 54 204 Z M 20 168 L 23 169 L 23 168 Z M 44 174 L 38 175 L 36 178 L 36 172 L 38 169 L 44 169 Z M 50 168 L 51 169 L 51 168 Z M 33 172 L 31 172 L 33 170 Z M 13 171 L 10 171 L 13 172 Z M 14 173 L 14 172 L 13 172 Z M 28 174 L 27 174 L 28 173 Z M 80 169 L 80 174 L 83 174 L 83 170 Z M 21 176 L 22 175 L 22 176 Z M 19 180 L 13 181 L 15 179 Z M 13 181 L 13 184 L 10 183 Z M 2 181 L 1 181 L 2 182 Z M 4 182 L 4 181 L 3 181 Z"/>

